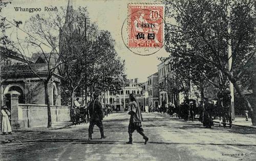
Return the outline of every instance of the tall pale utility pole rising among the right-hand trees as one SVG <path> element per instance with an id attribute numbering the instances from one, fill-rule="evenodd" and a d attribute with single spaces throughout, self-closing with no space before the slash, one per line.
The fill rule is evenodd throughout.
<path id="1" fill-rule="evenodd" d="M 227 18 L 228 18 L 228 25 L 227 25 L 227 32 L 228 36 L 231 34 L 231 25 L 230 25 L 230 5 L 227 6 Z M 231 72 L 232 75 L 232 46 L 231 46 L 231 39 L 228 38 L 228 70 Z M 231 95 L 231 105 L 230 105 L 230 113 L 231 119 L 234 121 L 234 87 L 231 81 L 229 80 L 229 91 Z"/>

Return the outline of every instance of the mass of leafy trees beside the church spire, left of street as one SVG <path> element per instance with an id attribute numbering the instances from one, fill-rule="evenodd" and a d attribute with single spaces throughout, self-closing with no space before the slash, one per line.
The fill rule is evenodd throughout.
<path id="1" fill-rule="evenodd" d="M 88 18 L 84 18 L 88 17 L 86 8 L 74 10 L 71 7 L 67 15 L 69 18 L 66 19 L 65 28 L 73 32 L 61 34 L 61 50 L 65 50 L 63 59 L 71 61 L 60 66 L 59 71 L 64 77 L 62 91 L 71 98 L 72 108 L 75 93 L 87 101 L 87 96 L 92 96 L 96 89 L 114 91 L 120 84 L 114 77 L 123 72 L 123 64 L 117 57 L 111 34 L 99 31 L 96 24 L 90 24 Z M 74 30 L 74 26 L 77 29 Z"/>

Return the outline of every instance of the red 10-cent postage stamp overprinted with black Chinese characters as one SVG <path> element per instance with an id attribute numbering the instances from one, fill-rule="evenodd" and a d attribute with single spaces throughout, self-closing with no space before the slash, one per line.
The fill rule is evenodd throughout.
<path id="1" fill-rule="evenodd" d="M 161 48 L 164 39 L 164 5 L 128 5 L 128 47 Z"/>

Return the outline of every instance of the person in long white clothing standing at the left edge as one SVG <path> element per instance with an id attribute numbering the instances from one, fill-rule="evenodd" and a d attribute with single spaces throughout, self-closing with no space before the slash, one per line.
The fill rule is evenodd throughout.
<path id="1" fill-rule="evenodd" d="M 12 133 L 12 127 L 11 127 L 11 124 L 10 124 L 10 121 L 9 121 L 9 116 L 11 116 L 11 113 L 7 110 L 6 105 L 2 106 L 1 115 L 2 115 L 2 132 L 3 132 L 3 135 L 6 135 L 6 132 L 11 134 Z"/>

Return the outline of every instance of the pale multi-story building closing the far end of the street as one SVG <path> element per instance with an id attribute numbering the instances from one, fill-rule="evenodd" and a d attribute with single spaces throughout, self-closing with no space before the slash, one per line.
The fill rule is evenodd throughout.
<path id="1" fill-rule="evenodd" d="M 105 97 L 102 98 L 102 104 L 110 104 L 114 106 L 117 111 L 126 111 L 129 108 L 129 95 L 133 93 L 140 106 L 144 106 L 142 97 L 142 84 L 138 82 L 138 78 L 130 79 L 129 85 L 123 87 L 117 93 L 105 92 Z M 125 106 L 124 106 L 125 100 Z"/>

